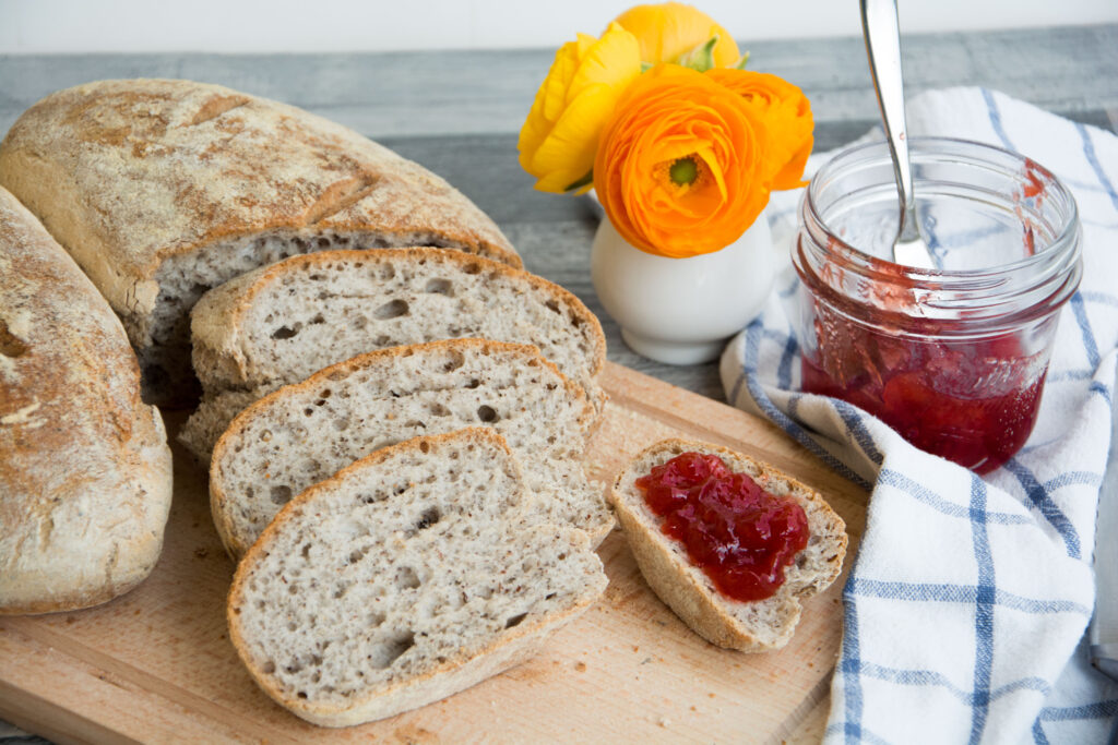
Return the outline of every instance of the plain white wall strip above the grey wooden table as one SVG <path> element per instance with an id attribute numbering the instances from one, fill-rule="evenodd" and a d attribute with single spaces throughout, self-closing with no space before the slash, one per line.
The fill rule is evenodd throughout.
<path id="1" fill-rule="evenodd" d="M 1118 22 L 1118 0 L 899 0 L 903 32 Z M 558 47 L 635 0 L 0 0 L 0 54 Z M 736 38 L 861 34 L 858 0 L 693 0 Z"/>

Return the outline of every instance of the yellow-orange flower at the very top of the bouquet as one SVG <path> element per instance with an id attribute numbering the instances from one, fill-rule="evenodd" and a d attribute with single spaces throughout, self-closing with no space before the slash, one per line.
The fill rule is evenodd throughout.
<path id="1" fill-rule="evenodd" d="M 636 6 L 614 22 L 620 23 L 637 38 L 641 60 L 650 65 L 679 61 L 681 55 L 705 44 L 714 35 L 718 35 L 713 49 L 714 67 L 732 67 L 741 58 L 729 31 L 707 13 L 682 2 Z"/>

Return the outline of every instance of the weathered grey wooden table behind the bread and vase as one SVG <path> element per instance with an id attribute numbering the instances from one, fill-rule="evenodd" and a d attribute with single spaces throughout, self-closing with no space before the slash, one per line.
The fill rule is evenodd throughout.
<path id="1" fill-rule="evenodd" d="M 875 123 L 861 39 L 739 44 L 751 52 L 752 69 L 781 75 L 806 92 L 817 150 L 849 142 Z M 1118 26 L 912 36 L 903 51 L 910 95 L 980 85 L 1118 132 Z M 46 94 L 112 77 L 190 78 L 301 106 L 423 163 L 473 199 L 530 270 L 563 285 L 599 315 L 612 361 L 724 400 L 713 363 L 672 367 L 625 347 L 590 286 L 594 206 L 588 198 L 534 192 L 517 164 L 517 132 L 553 54 L 0 56 L 0 134 Z M 1112 455 L 1108 488 L 1118 480 L 1114 464 Z M 0 723 L 0 743 L 6 741 Z"/>

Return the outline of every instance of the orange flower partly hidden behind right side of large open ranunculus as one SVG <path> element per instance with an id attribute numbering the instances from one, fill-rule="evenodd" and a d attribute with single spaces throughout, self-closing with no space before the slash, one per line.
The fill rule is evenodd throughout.
<path id="1" fill-rule="evenodd" d="M 751 70 L 711 69 L 707 75 L 764 111 L 770 133 L 768 169 L 773 189 L 807 184 L 804 166 L 814 144 L 812 104 L 804 92 L 781 77 Z"/>

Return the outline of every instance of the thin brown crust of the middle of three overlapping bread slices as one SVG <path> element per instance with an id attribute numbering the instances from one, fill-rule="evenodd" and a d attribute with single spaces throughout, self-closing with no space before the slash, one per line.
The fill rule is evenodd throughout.
<path id="1" fill-rule="evenodd" d="M 256 401 L 237 414 L 237 418 L 233 420 L 233 423 L 229 424 L 229 428 L 217 441 L 217 445 L 214 447 L 214 456 L 210 461 L 210 512 L 214 517 L 214 525 L 217 527 L 217 533 L 221 537 L 221 543 L 225 545 L 229 555 L 234 558 L 243 556 L 248 551 L 249 545 L 247 545 L 247 542 L 237 534 L 230 516 L 230 509 L 233 506 L 230 505 L 229 496 L 221 487 L 221 477 L 219 471 L 226 459 L 226 450 L 230 447 L 236 447 L 235 442 L 237 438 L 241 436 L 241 431 L 248 422 L 253 420 L 253 418 L 269 411 L 273 407 L 284 405 L 284 400 L 294 394 L 329 384 L 330 380 L 334 376 L 348 376 L 352 371 L 376 365 L 380 360 L 402 357 L 413 354 L 424 354 L 427 351 L 437 353 L 439 350 L 461 350 L 466 347 L 494 350 L 499 352 L 519 352 L 538 360 L 541 365 L 548 367 L 559 380 L 562 381 L 569 397 L 581 401 L 582 414 L 580 417 L 580 424 L 584 431 L 589 432 L 595 421 L 595 413 L 594 408 L 586 398 L 586 393 L 581 388 L 576 385 L 561 372 L 559 372 L 559 369 L 556 367 L 555 363 L 541 356 L 539 348 L 536 346 L 527 344 L 506 344 L 504 342 L 492 342 L 482 338 L 454 338 L 439 342 L 428 342 L 426 344 L 413 344 L 409 346 L 394 346 L 387 350 L 378 350 L 376 352 L 360 354 L 350 360 L 345 360 L 344 362 L 320 370 L 300 383 L 285 385 L 265 395 L 263 399 Z M 613 529 L 612 524 L 603 526 L 601 534 L 591 536 L 591 539 L 596 543 L 600 542 L 600 539 L 605 537 L 610 529 Z"/>

